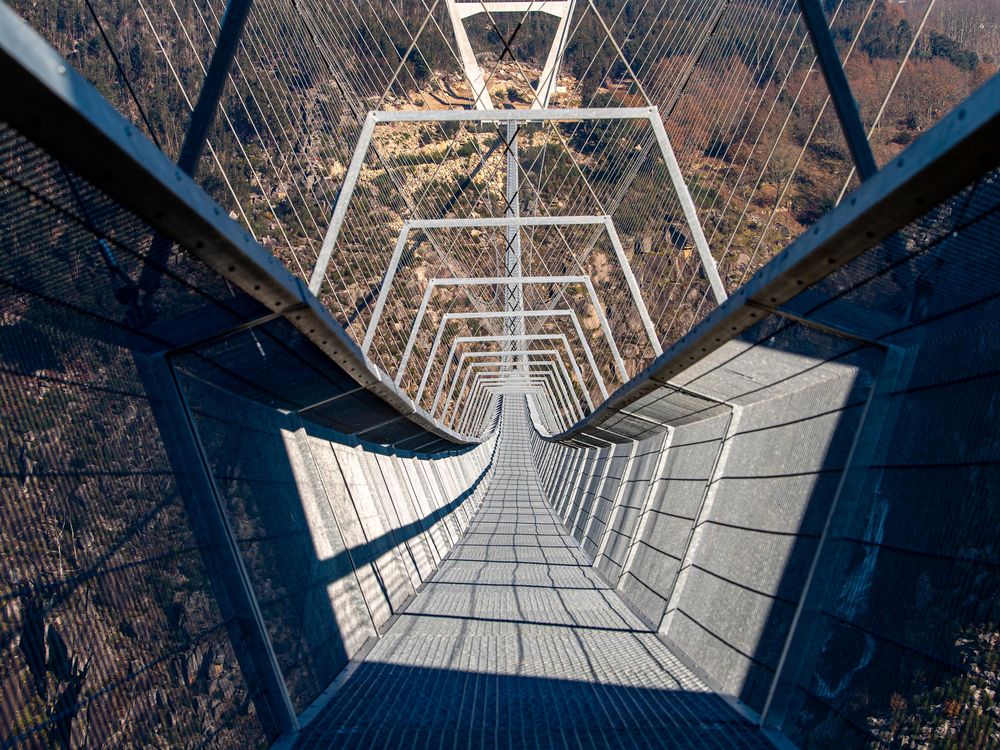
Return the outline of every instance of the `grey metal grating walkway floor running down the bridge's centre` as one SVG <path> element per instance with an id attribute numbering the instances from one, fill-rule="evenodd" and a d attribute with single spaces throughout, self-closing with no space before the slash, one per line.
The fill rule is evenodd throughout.
<path id="1" fill-rule="evenodd" d="M 598 579 L 504 415 L 468 533 L 296 747 L 771 747 Z"/>

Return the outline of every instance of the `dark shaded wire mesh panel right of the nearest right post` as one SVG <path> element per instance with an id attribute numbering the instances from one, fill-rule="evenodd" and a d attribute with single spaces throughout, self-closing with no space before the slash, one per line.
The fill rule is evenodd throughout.
<path id="1" fill-rule="evenodd" d="M 847 474 L 853 515 L 826 557 L 843 583 L 821 600 L 786 715 L 803 739 L 1000 741 L 988 697 L 1000 443 L 986 417 L 998 392 L 998 208 L 991 172 L 831 277 L 817 290 L 825 303 L 811 301 L 817 319 L 844 320 L 851 300 L 869 311 L 854 327 L 906 355 L 886 386 L 885 426 L 866 436 L 877 445 L 861 446 L 867 455 Z"/>

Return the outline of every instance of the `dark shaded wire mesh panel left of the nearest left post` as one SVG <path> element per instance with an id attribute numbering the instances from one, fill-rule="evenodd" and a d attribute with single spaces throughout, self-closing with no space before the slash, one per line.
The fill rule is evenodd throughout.
<path id="1" fill-rule="evenodd" d="M 259 745 L 269 716 L 136 358 L 151 232 L 2 130 L 3 698 L 26 747 Z M 159 313 L 225 294 L 183 268 Z M 224 297 L 223 297 L 224 299 Z M 121 300 L 121 301 L 120 301 Z"/>

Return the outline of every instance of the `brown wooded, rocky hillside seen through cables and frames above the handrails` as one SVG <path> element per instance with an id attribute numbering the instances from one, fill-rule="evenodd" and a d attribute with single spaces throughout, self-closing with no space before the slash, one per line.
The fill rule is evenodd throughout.
<path id="1" fill-rule="evenodd" d="M 948 24 L 941 7 L 917 5 L 903 15 L 877 0 L 830 7 L 863 124 L 883 163 L 989 75 L 981 55 L 942 41 L 938 29 Z M 177 153 L 177 123 L 197 99 L 222 3 L 18 10 L 166 153 Z M 365 113 L 473 102 L 448 13 L 445 0 L 254 3 L 200 181 L 301 278 L 313 272 Z M 531 105 L 554 22 L 530 8 L 467 19 L 495 106 Z M 577 3 L 563 51 L 550 106 L 659 108 L 729 292 L 855 184 L 792 0 Z M 947 76 L 951 85 L 940 85 Z M 926 111 L 914 106 L 921 97 Z M 660 344 L 714 308 L 691 227 L 644 124 L 548 123 L 520 139 L 522 214 L 610 215 Z M 401 221 L 503 214 L 503 140 L 493 126 L 431 122 L 396 126 L 375 144 L 320 293 L 355 340 L 365 335 Z M 415 237 L 406 265 L 478 273 L 501 264 L 503 243 L 439 234 Z M 600 277 L 614 263 L 600 232 L 582 234 L 533 238 L 525 257 Z M 625 312 L 626 284 L 614 273 L 595 284 L 615 313 L 610 322 L 634 375 L 653 351 Z M 386 307 L 371 356 L 387 372 L 400 365 L 397 339 L 405 340 L 401 331 L 422 291 L 418 276 Z M 495 300 L 467 296 L 462 304 L 496 308 Z M 526 301 L 555 304 L 552 297 Z M 432 307 L 441 314 L 451 304 Z M 405 377 L 404 387 L 415 395 L 411 380 Z"/>

